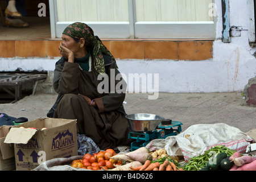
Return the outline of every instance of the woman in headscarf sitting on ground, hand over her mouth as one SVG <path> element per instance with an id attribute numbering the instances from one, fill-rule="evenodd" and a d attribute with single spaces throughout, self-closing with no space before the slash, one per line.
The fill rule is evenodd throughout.
<path id="1" fill-rule="evenodd" d="M 77 119 L 77 132 L 93 139 L 101 150 L 130 144 L 122 105 L 126 82 L 112 78 L 119 74 L 114 57 L 84 23 L 70 24 L 62 39 L 62 57 L 53 77 L 53 88 L 61 97 L 53 117 Z"/>

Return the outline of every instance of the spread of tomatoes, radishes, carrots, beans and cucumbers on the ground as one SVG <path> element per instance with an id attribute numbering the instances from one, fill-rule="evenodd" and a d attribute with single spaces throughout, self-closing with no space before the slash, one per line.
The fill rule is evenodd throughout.
<path id="1" fill-rule="evenodd" d="M 83 159 L 74 160 L 72 167 L 108 171 L 256 171 L 256 157 L 214 146 L 187 163 L 179 163 L 178 156 L 170 156 L 164 149 L 150 152 L 141 147 L 126 154 L 115 154 L 109 148 L 93 155 L 85 154 Z"/>

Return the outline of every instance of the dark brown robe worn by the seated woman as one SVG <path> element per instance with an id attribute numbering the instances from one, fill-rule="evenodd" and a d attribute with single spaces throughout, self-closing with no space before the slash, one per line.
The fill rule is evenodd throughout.
<path id="1" fill-rule="evenodd" d="M 124 80 L 115 80 L 110 77 L 116 76 L 119 71 L 108 56 L 104 56 L 104 60 L 106 73 L 109 76 L 109 89 L 113 88 L 110 81 L 114 79 L 114 87 L 118 82 L 122 83 L 121 87 L 117 86 L 119 90 L 99 93 L 97 89 L 101 80 L 97 80 L 93 69 L 91 72 L 82 71 L 79 64 L 69 63 L 63 57 L 57 61 L 53 77 L 53 88 L 62 95 L 54 117 L 77 119 L 77 132 L 90 137 L 101 150 L 127 145 L 131 142 L 128 139 L 129 124 L 122 105 L 125 92 L 121 90 L 126 90 L 126 83 Z M 115 75 L 110 74 L 111 70 L 115 71 Z M 104 86 L 106 88 L 106 85 Z M 79 94 L 91 100 L 94 99 L 97 107 L 88 105 Z"/>

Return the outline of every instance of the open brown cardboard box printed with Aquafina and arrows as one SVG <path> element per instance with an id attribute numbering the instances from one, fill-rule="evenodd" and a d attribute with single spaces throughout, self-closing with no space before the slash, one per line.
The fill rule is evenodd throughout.
<path id="1" fill-rule="evenodd" d="M 17 171 L 32 170 L 49 159 L 76 156 L 76 119 L 40 118 L 22 123 L 11 127 L 5 143 L 14 143 Z"/>

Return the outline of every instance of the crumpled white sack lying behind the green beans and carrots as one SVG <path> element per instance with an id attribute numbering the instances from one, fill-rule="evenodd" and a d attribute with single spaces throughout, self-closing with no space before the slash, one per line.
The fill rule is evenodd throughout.
<path id="1" fill-rule="evenodd" d="M 185 135 L 190 135 L 185 138 Z M 236 127 L 225 123 L 198 124 L 188 127 L 184 132 L 166 139 L 154 139 L 147 144 L 151 151 L 165 148 L 168 155 L 181 153 L 185 161 L 193 156 L 204 154 L 212 146 L 225 145 L 238 152 L 245 152 L 250 142 L 254 141 L 249 135 Z"/>

